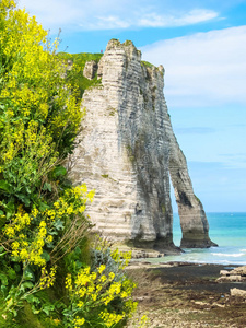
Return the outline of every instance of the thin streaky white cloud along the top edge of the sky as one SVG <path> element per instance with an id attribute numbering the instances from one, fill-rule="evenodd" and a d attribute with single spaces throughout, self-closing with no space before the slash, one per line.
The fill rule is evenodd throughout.
<path id="1" fill-rule="evenodd" d="M 46 28 L 73 31 L 129 27 L 173 27 L 197 24 L 219 16 L 213 10 L 177 10 L 160 1 L 143 0 L 19 0 Z"/>

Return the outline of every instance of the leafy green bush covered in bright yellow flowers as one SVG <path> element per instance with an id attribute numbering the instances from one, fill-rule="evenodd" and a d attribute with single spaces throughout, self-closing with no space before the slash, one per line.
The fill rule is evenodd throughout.
<path id="1" fill-rule="evenodd" d="M 57 47 L 1 0 L 0 325 L 25 327 L 31 308 L 28 327 L 121 327 L 137 306 L 129 255 L 93 246 L 84 212 L 94 191 L 72 187 L 62 166 L 84 113 Z"/>

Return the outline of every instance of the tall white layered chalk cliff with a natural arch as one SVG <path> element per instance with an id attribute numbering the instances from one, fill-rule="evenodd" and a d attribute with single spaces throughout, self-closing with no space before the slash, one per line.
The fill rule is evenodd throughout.
<path id="1" fill-rule="evenodd" d="M 173 244 L 169 176 L 183 230 L 183 247 L 213 245 L 186 159 L 174 136 L 163 94 L 164 69 L 141 62 L 131 42 L 110 40 L 97 63 L 89 62 L 82 106 L 82 141 L 70 159 L 70 177 L 95 189 L 87 213 L 113 239 L 164 251 Z M 91 74 L 91 75 L 90 75 Z"/>

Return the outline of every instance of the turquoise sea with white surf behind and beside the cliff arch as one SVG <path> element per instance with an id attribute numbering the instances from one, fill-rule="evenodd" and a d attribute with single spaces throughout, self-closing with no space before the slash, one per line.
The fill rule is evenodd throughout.
<path id="1" fill-rule="evenodd" d="M 197 263 L 246 266 L 246 213 L 207 213 L 209 235 L 218 247 L 191 248 L 184 254 L 152 259 L 152 262 L 184 261 Z M 174 213 L 174 244 L 180 245 L 179 218 Z M 148 259 L 149 260 L 149 259 Z"/>

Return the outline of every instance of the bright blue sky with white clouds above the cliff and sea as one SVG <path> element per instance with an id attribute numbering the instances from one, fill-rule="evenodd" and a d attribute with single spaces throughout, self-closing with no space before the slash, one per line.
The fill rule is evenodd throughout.
<path id="1" fill-rule="evenodd" d="M 19 0 L 60 51 L 130 39 L 165 68 L 164 94 L 207 212 L 246 212 L 246 0 Z M 173 202 L 174 212 L 177 211 Z"/>

